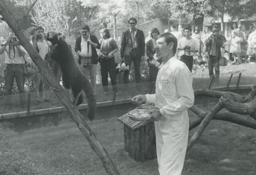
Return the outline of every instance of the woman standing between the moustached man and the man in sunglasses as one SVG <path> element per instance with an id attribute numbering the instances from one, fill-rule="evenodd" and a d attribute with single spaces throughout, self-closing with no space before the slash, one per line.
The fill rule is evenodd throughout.
<path id="1" fill-rule="evenodd" d="M 114 53 L 118 51 L 118 47 L 113 38 L 110 38 L 109 31 L 104 29 L 102 31 L 102 40 L 100 40 L 100 72 L 101 72 L 101 82 L 104 90 L 104 94 L 108 93 L 108 74 L 113 87 L 113 92 L 117 91 L 116 87 L 116 73 L 115 73 L 115 62 Z"/>

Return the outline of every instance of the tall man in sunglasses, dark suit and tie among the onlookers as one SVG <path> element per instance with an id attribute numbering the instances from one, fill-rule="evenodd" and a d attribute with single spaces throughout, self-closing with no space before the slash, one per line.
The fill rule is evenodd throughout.
<path id="1" fill-rule="evenodd" d="M 130 18 L 128 23 L 130 29 L 122 33 L 120 57 L 121 61 L 124 61 L 126 65 L 129 65 L 130 69 L 132 62 L 134 62 L 135 80 L 136 83 L 141 83 L 140 67 L 141 60 L 144 59 L 145 55 L 145 36 L 143 31 L 136 29 L 136 18 Z M 129 83 L 130 69 L 123 74 L 124 84 Z M 140 85 L 137 85 L 138 90 L 140 90 L 139 86 Z"/>

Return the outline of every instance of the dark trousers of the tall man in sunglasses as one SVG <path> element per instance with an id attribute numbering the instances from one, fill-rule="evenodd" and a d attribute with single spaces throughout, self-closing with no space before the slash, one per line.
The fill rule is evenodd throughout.
<path id="1" fill-rule="evenodd" d="M 137 55 L 137 50 L 133 49 L 130 55 L 124 56 L 124 62 L 129 65 L 129 71 L 125 71 L 123 74 L 123 83 L 129 83 L 129 73 L 131 70 L 132 62 L 134 62 L 134 71 L 135 71 L 135 81 L 136 83 L 141 83 L 141 56 Z"/>

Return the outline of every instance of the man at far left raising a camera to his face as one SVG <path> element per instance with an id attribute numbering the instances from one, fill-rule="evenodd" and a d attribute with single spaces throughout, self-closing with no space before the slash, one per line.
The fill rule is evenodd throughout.
<path id="1" fill-rule="evenodd" d="M 13 31 L 9 31 L 8 38 L 6 42 L 2 44 L 0 48 L 0 55 L 4 54 L 6 56 L 6 73 L 5 73 L 5 83 L 6 83 L 6 94 L 11 95 L 14 85 L 14 78 L 16 80 L 18 90 L 20 93 L 20 103 L 22 107 L 26 106 L 25 97 L 25 75 L 24 75 L 24 59 L 26 55 L 25 49 L 20 46 L 18 38 L 15 36 Z M 10 100 L 10 98 L 8 98 Z M 9 103 L 10 101 L 8 101 Z"/>

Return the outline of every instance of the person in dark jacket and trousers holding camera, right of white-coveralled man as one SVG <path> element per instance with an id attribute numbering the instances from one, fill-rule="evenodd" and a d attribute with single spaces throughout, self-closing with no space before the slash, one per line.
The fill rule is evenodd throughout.
<path id="1" fill-rule="evenodd" d="M 219 30 L 214 29 L 210 37 L 206 40 L 205 45 L 208 48 L 208 69 L 210 78 L 213 74 L 213 67 L 215 68 L 215 77 L 219 77 L 219 60 L 221 57 L 220 48 L 224 44 L 224 39 L 219 35 Z"/>

